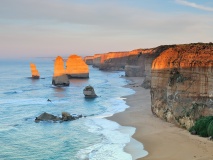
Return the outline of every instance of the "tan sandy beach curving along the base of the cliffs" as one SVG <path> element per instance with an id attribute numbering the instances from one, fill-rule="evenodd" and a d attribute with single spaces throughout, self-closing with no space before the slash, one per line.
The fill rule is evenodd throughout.
<path id="1" fill-rule="evenodd" d="M 136 128 L 133 138 L 142 142 L 148 151 L 142 160 L 213 160 L 213 141 L 191 135 L 187 130 L 167 123 L 151 112 L 150 90 L 140 87 L 143 78 L 126 78 L 126 87 L 136 91 L 125 97 L 130 107 L 108 119 L 122 126 Z M 126 151 L 133 154 L 126 147 Z"/>

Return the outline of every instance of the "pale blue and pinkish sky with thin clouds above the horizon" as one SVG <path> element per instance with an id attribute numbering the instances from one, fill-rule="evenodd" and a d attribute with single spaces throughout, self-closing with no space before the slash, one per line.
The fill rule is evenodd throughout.
<path id="1" fill-rule="evenodd" d="M 210 0 L 0 0 L 0 58 L 212 41 Z"/>

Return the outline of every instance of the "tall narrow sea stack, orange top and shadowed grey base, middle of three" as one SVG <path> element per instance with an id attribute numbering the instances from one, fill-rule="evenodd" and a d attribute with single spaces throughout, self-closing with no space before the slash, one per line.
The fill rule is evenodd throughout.
<path id="1" fill-rule="evenodd" d="M 54 63 L 52 84 L 55 86 L 69 86 L 70 81 L 65 73 L 63 58 L 58 56 Z"/>

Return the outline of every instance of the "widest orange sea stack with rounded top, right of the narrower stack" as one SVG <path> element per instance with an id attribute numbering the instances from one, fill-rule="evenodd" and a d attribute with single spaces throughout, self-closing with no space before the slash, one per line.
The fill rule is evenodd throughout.
<path id="1" fill-rule="evenodd" d="M 89 78 L 89 67 L 80 56 L 70 55 L 66 62 L 69 78 Z"/>

